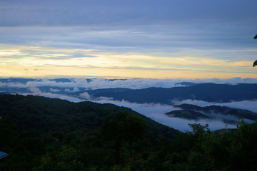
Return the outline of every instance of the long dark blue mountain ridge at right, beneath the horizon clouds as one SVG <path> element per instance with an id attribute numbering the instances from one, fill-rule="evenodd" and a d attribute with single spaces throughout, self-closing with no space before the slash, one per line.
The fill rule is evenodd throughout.
<path id="1" fill-rule="evenodd" d="M 203 100 L 226 103 L 240 100 L 256 100 L 257 84 L 214 84 L 201 83 L 189 87 L 144 88 L 122 92 L 99 93 L 94 97 L 127 100 L 131 103 L 163 103 L 172 104 L 173 100 Z"/>

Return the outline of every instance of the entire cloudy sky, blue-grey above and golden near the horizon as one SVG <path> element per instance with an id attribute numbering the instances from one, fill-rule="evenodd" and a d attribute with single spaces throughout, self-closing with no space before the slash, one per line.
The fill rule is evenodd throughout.
<path id="1" fill-rule="evenodd" d="M 257 78 L 256 0 L 1 0 L 0 77 Z"/>

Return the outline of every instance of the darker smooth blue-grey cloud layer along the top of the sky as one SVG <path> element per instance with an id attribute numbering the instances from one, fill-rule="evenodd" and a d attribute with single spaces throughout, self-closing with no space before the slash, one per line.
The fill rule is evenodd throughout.
<path id="1" fill-rule="evenodd" d="M 256 1 L 1 1 L 1 26 L 148 24 L 256 19 Z"/>

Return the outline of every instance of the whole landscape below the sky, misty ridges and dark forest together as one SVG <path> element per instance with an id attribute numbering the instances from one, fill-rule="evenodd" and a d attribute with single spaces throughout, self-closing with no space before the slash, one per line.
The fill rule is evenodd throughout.
<path id="1" fill-rule="evenodd" d="M 255 82 L 2 78 L 0 168 L 251 170 Z"/>

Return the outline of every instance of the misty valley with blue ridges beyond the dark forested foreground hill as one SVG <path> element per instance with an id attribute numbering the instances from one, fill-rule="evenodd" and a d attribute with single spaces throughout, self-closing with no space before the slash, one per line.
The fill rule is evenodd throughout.
<path id="1" fill-rule="evenodd" d="M 190 130 L 188 123 L 208 124 L 211 130 L 236 128 L 242 118 L 246 123 L 254 123 L 257 120 L 256 85 L 254 79 L 241 78 L 191 82 L 103 78 L 0 79 L 0 90 L 4 93 L 41 95 L 71 102 L 112 103 L 183 132 Z M 198 106 L 189 110 L 206 117 L 166 115 L 171 111 L 188 110 L 181 108 L 182 104 Z M 204 111 L 200 107 L 210 109 Z"/>

